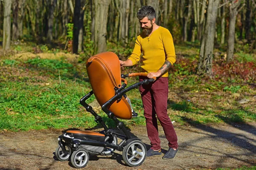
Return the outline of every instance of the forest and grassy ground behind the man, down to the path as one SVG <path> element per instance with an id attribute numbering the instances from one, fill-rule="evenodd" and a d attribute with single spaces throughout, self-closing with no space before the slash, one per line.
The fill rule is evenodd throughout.
<path id="1" fill-rule="evenodd" d="M 255 122 L 256 0 L 0 0 L 0 130 L 96 127 L 79 104 L 91 91 L 85 61 L 104 51 L 126 59 L 143 5 L 156 9 L 175 42 L 172 121 Z M 139 92 L 128 95 L 139 116 L 126 125 L 145 125 Z"/>

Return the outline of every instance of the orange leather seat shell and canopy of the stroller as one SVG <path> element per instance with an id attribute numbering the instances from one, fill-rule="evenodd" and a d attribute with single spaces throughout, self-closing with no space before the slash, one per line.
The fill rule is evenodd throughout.
<path id="1" fill-rule="evenodd" d="M 87 59 L 86 70 L 93 93 L 99 105 L 111 99 L 121 88 L 121 70 L 117 55 L 113 52 L 103 52 Z M 125 97 L 109 105 L 109 111 L 119 119 L 131 119 L 131 107 Z"/>

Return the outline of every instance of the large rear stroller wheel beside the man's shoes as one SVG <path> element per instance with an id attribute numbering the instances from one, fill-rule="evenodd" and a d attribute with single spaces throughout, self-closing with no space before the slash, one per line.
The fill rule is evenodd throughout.
<path id="1" fill-rule="evenodd" d="M 146 146 L 143 142 L 135 140 L 127 144 L 122 151 L 122 158 L 130 167 L 140 166 L 146 159 Z"/>

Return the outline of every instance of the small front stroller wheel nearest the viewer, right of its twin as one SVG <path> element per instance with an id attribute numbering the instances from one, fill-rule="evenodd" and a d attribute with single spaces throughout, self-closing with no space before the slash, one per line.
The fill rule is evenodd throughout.
<path id="1" fill-rule="evenodd" d="M 71 163 L 76 168 L 86 167 L 89 161 L 89 153 L 85 149 L 78 149 L 71 156 Z"/>

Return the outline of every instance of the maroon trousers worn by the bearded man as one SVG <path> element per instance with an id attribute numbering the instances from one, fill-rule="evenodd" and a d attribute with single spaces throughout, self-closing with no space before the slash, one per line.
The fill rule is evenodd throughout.
<path id="1" fill-rule="evenodd" d="M 140 77 L 140 81 L 146 78 Z M 139 90 L 143 102 L 148 138 L 151 141 L 151 149 L 161 149 L 157 119 L 160 121 L 166 139 L 169 141 L 169 147 L 178 148 L 177 135 L 167 114 L 168 77 L 160 77 L 148 85 L 142 85 Z"/>

